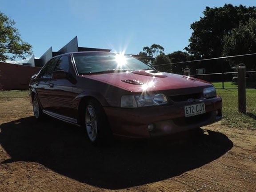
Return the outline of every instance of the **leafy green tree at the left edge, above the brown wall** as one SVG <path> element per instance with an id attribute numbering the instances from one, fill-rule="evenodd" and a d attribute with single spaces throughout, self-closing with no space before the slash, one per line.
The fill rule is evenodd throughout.
<path id="1" fill-rule="evenodd" d="M 32 46 L 20 39 L 20 34 L 13 26 L 15 22 L 0 12 L 0 61 L 25 59 L 31 55 Z"/>

